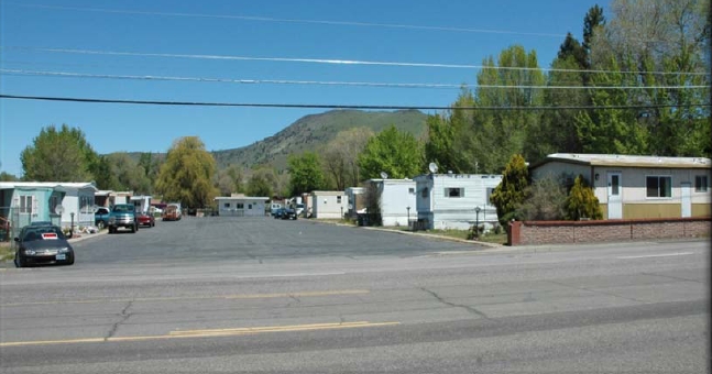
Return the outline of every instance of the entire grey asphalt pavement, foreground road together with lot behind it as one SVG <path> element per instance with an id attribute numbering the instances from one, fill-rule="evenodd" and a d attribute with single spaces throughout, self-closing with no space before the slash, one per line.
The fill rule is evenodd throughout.
<path id="1" fill-rule="evenodd" d="M 705 373 L 706 241 L 483 250 L 186 219 L 0 271 L 2 373 Z"/>

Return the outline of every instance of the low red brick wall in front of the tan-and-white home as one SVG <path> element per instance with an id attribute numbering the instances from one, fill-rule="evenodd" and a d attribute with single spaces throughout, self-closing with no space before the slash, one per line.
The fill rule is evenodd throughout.
<path id="1" fill-rule="evenodd" d="M 524 221 L 510 223 L 510 245 L 620 242 L 710 235 L 712 218 L 602 221 Z"/>

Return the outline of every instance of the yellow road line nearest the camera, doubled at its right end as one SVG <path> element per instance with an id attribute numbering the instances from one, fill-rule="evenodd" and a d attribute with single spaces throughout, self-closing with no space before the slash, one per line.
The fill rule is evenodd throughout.
<path id="1" fill-rule="evenodd" d="M 269 333 L 269 332 L 341 330 L 341 329 L 354 329 L 354 328 L 387 327 L 387 326 L 397 326 L 397 324 L 401 324 L 401 322 L 359 321 L 359 322 L 343 322 L 343 323 L 313 323 L 313 324 L 272 326 L 272 327 L 254 327 L 254 328 L 237 328 L 237 329 L 209 329 L 209 330 L 185 330 L 185 331 L 178 330 L 178 331 L 171 331 L 168 334 L 164 334 L 164 336 L 15 341 L 15 342 L 0 343 L 0 348 L 48 345 L 48 344 L 131 342 L 131 341 L 183 339 L 183 338 L 222 338 L 222 337 L 238 337 L 238 336 L 259 334 L 259 333 Z"/>

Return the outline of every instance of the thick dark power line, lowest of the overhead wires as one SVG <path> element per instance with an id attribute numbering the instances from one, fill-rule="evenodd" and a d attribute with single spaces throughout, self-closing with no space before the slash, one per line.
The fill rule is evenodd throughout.
<path id="1" fill-rule="evenodd" d="M 191 107 L 252 107 L 252 108 L 299 108 L 299 109 L 381 109 L 381 110 L 587 110 L 587 109 L 650 109 L 650 108 L 702 108 L 711 103 L 693 105 L 647 105 L 647 106 L 561 106 L 561 107 L 442 107 L 442 106 L 372 106 L 372 105 L 322 105 L 322 103 L 260 103 L 260 102 L 215 102 L 215 101 L 158 101 L 68 98 L 50 96 L 20 96 L 0 94 L 0 99 L 45 100 L 88 103 L 121 103 L 149 106 L 191 106 Z"/>

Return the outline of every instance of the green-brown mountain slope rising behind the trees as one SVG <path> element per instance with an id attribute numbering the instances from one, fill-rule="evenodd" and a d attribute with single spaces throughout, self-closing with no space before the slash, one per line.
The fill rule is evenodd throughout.
<path id="1" fill-rule="evenodd" d="M 218 168 L 230 164 L 245 168 L 271 164 L 281 170 L 286 167 L 289 154 L 318 152 L 339 132 L 351 128 L 369 128 L 377 133 L 393 124 L 398 130 L 410 132 L 416 139 L 420 139 L 426 133 L 426 114 L 417 110 L 332 110 L 305 116 L 270 138 L 239 148 L 213 151 L 212 155 Z"/>

